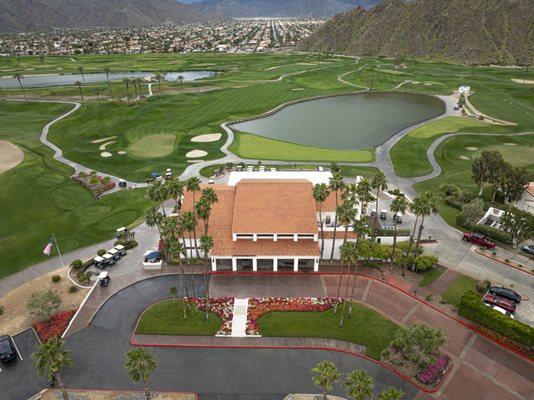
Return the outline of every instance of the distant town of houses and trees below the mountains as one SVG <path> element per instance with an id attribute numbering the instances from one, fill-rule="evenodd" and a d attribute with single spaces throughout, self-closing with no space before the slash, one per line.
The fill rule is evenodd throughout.
<path id="1" fill-rule="evenodd" d="M 235 19 L 135 28 L 55 29 L 0 35 L 1 55 L 253 53 L 293 47 L 317 19 Z"/>

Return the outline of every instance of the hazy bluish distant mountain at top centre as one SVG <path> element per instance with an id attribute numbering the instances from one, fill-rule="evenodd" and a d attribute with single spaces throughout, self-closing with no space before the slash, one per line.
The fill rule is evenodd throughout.
<path id="1" fill-rule="evenodd" d="M 219 18 L 330 18 L 356 6 L 372 7 L 380 0 L 205 0 L 197 10 Z"/>

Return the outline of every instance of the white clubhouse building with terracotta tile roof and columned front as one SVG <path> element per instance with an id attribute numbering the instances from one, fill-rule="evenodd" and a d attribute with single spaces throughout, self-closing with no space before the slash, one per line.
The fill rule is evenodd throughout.
<path id="1" fill-rule="evenodd" d="M 208 234 L 214 246 L 210 254 L 213 271 L 319 270 L 319 204 L 313 186 L 328 184 L 328 171 L 236 171 L 228 183 L 212 187 L 218 202 L 212 206 Z M 359 177 L 357 178 L 359 181 Z M 322 204 L 325 226 L 323 258 L 329 258 L 334 229 L 335 195 Z M 186 192 L 182 212 L 193 210 L 192 193 Z M 359 218 L 361 210 L 357 209 Z M 334 258 L 339 258 L 344 227 L 338 226 Z M 202 221 L 197 241 L 204 232 Z M 356 236 L 349 230 L 348 240 Z M 194 245 L 188 243 L 194 256 Z"/>

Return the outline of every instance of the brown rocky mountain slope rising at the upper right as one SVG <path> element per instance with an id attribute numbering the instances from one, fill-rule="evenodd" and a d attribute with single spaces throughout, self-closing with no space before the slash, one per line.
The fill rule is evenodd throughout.
<path id="1" fill-rule="evenodd" d="M 534 60 L 533 0 L 384 0 L 337 14 L 299 48 L 462 63 Z"/>

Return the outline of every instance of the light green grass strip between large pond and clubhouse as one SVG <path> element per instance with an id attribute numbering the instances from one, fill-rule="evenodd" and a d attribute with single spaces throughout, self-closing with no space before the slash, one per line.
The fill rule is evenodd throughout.
<path id="1" fill-rule="evenodd" d="M 230 145 L 236 155 L 259 160 L 370 162 L 374 150 L 331 150 L 267 139 L 249 133 L 237 133 Z"/>

